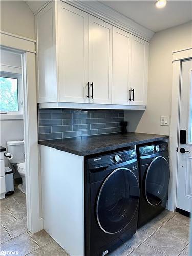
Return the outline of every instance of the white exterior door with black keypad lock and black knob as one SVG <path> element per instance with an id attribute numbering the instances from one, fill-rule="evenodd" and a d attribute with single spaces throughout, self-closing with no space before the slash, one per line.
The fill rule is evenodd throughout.
<path id="1" fill-rule="evenodd" d="M 182 62 L 176 207 L 192 206 L 192 60 Z M 182 132 L 181 132 L 182 130 Z M 186 143 L 185 134 L 186 131 Z"/>

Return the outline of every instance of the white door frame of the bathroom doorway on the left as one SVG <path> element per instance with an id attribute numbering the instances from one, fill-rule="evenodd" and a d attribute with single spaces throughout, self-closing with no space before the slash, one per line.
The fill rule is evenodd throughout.
<path id="1" fill-rule="evenodd" d="M 38 146 L 35 40 L 0 31 L 0 46 L 22 54 L 24 88 L 24 140 L 26 155 L 27 228 L 31 233 L 43 229 Z"/>

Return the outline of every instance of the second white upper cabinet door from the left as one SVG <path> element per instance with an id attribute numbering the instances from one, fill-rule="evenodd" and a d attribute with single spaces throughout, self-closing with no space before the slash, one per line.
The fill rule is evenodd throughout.
<path id="1" fill-rule="evenodd" d="M 111 103 L 112 25 L 89 15 L 90 103 Z"/>

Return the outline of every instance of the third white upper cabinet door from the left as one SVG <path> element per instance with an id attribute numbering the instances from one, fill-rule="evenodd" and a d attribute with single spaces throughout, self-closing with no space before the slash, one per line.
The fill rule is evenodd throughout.
<path id="1" fill-rule="evenodd" d="M 128 105 L 131 87 L 132 35 L 113 27 L 112 103 Z"/>

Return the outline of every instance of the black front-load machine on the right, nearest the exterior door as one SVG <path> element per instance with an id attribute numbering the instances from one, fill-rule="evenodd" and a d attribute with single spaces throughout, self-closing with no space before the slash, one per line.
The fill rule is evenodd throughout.
<path id="1" fill-rule="evenodd" d="M 166 142 L 137 147 L 139 164 L 139 217 L 138 227 L 160 214 L 167 203 L 170 178 L 169 153 Z"/>

